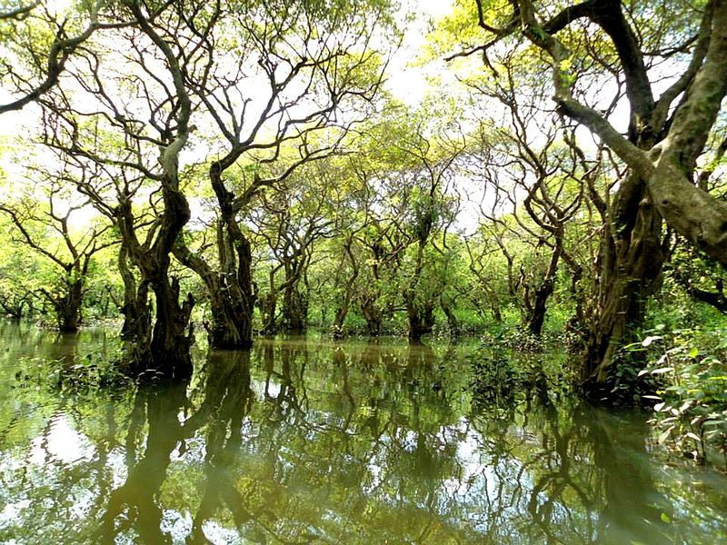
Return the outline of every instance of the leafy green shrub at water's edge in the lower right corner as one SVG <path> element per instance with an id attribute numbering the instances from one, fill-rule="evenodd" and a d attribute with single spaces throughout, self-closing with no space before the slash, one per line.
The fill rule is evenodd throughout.
<path id="1" fill-rule="evenodd" d="M 641 343 L 650 365 L 642 378 L 658 379 L 651 420 L 657 443 L 704 463 L 719 454 L 727 470 L 727 328 L 657 330 Z"/>

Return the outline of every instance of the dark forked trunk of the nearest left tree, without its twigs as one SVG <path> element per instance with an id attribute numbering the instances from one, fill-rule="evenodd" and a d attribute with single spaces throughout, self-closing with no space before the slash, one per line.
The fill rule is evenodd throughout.
<path id="1" fill-rule="evenodd" d="M 132 328 L 133 336 L 129 339 L 132 350 L 127 353 L 127 363 L 136 376 L 151 379 L 162 375 L 178 380 L 189 377 L 193 371 L 190 347 L 194 342 L 194 328 L 190 317 L 194 298 L 188 294 L 184 302 L 180 302 L 179 282 L 170 278 L 169 267 L 174 242 L 191 215 L 189 203 L 180 190 L 179 154 L 194 130 L 189 125 L 192 101 L 185 88 L 180 57 L 156 32 L 139 4 L 131 3 L 129 8 L 141 31 L 164 57 L 168 75 L 174 84 L 174 100 L 170 101 L 172 107 L 167 126 L 160 131 L 164 145 L 158 146 L 160 154 L 157 161 L 161 170 L 154 174 L 161 190 L 163 208 L 153 231 L 146 234 L 144 242 L 139 239 L 128 196 L 120 195 L 115 207 L 115 223 L 122 236 L 124 252 L 138 268 L 141 277 L 136 305 L 129 309 L 130 312 L 145 312 L 145 295 L 149 288 L 155 298 L 155 321 L 151 334 L 148 329 L 142 329 L 148 328 L 149 323 L 145 319 L 135 320 L 134 316 L 136 327 Z"/>

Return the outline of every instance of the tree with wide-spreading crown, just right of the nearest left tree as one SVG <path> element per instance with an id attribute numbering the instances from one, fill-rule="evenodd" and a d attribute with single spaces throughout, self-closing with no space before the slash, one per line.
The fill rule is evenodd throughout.
<path id="1" fill-rule="evenodd" d="M 388 7 L 305 1 L 211 8 L 217 34 L 201 44 L 206 62 L 185 76 L 220 137 L 208 171 L 219 210 L 219 266 L 181 247 L 177 257 L 200 273 L 210 292 L 213 346 L 252 342 L 252 248 L 241 226 L 244 213 L 264 188 L 332 153 L 361 115 L 354 108 L 373 100 L 382 78 L 373 35 L 392 28 Z M 220 47 L 229 35 L 234 40 Z M 339 130 L 316 140 L 314 134 L 333 126 Z M 296 154 L 285 157 L 285 147 Z"/>

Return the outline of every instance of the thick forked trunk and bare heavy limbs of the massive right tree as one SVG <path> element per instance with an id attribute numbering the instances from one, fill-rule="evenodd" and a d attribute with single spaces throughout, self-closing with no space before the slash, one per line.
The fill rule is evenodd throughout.
<path id="1" fill-rule="evenodd" d="M 727 263 L 727 203 L 702 191 L 693 181 L 697 158 L 712 134 L 727 94 L 727 2 L 705 5 L 692 61 L 658 100 L 642 44 L 623 14 L 622 3 L 582 4 L 589 9 L 578 16 L 600 25 L 619 56 L 632 108 L 628 139 L 602 113 L 573 97 L 570 64 L 564 62 L 571 53 L 554 35 L 575 17 L 556 15 L 546 31 L 535 16 L 532 2 L 519 5 L 523 8 L 519 15 L 524 34 L 551 56 L 554 100 L 560 113 L 597 134 L 631 169 L 609 207 L 602 242 L 602 277 L 583 367 L 589 389 L 603 391 L 617 378 L 612 373 L 615 353 L 641 322 L 645 299 L 659 284 L 662 217 L 705 253 Z"/>

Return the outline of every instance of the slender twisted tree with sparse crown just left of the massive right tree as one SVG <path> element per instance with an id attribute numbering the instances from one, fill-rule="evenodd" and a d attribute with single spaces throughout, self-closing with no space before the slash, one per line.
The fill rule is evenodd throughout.
<path id="1" fill-rule="evenodd" d="M 482 141 L 470 152 L 474 164 L 468 172 L 485 184 L 488 205 L 480 203 L 480 213 L 507 263 L 509 292 L 519 294 L 523 329 L 539 336 L 561 262 L 574 276 L 581 267 L 567 247 L 566 233 L 583 202 L 583 176 L 560 127 L 520 105 L 508 79 L 510 85 L 493 96 L 505 106 L 509 123 L 498 126 L 491 119 L 481 125 Z M 505 243 L 499 233 L 510 233 L 521 248 Z M 492 282 L 483 274 L 481 255 L 475 259 L 470 251 L 470 263 L 484 286 Z"/>

